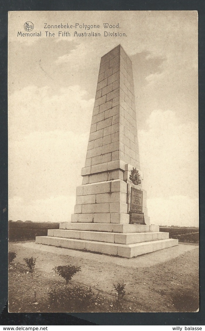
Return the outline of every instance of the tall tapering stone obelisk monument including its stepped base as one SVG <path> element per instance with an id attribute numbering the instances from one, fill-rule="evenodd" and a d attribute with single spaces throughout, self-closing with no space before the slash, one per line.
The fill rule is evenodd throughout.
<path id="1" fill-rule="evenodd" d="M 149 225 L 137 136 L 132 62 L 121 45 L 102 56 L 82 185 L 71 222 L 37 243 L 127 258 L 175 246 Z"/>

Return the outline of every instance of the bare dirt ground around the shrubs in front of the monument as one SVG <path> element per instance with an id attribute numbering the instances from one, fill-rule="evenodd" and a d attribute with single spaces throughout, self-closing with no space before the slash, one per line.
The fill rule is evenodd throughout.
<path id="1" fill-rule="evenodd" d="M 125 283 L 123 304 L 118 311 L 185 312 L 199 308 L 198 246 L 180 244 L 132 259 L 36 244 L 9 243 L 17 257 L 9 268 L 9 311 L 51 311 L 48 291 L 65 281 L 52 268 L 81 266 L 72 285 L 92 287 L 98 294 L 93 312 L 112 312 L 117 294 L 113 284 Z M 37 258 L 31 282 L 23 258 Z M 52 310 L 53 311 L 53 310 Z M 56 308 L 58 311 L 58 307 Z M 66 311 L 66 310 L 65 310 Z M 79 312 L 80 307 L 79 307 Z M 90 310 L 87 310 L 90 311 Z"/>

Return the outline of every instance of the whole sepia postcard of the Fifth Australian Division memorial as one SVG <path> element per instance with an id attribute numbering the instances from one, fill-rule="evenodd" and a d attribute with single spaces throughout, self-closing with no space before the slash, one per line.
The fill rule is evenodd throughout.
<path id="1" fill-rule="evenodd" d="M 197 11 L 8 13 L 9 312 L 199 311 Z"/>

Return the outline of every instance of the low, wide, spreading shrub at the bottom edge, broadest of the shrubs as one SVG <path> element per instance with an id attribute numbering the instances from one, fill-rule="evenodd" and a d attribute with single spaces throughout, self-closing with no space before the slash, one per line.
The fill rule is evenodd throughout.
<path id="1" fill-rule="evenodd" d="M 91 287 L 61 286 L 48 293 L 50 306 L 64 312 L 88 311 L 95 307 L 96 295 Z M 58 308 L 57 308 L 58 307 Z"/>

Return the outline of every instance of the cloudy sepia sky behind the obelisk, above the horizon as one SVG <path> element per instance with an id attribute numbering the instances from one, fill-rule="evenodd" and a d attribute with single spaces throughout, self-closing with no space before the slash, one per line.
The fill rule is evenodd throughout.
<path id="1" fill-rule="evenodd" d="M 41 37 L 21 37 L 24 23 Z M 51 24 L 96 24 L 52 29 Z M 103 23 L 119 24 L 104 29 Z M 70 32 L 59 37 L 58 31 Z M 104 31 L 125 33 L 104 36 Z M 46 37 L 46 31 L 55 36 Z M 143 187 L 152 224 L 198 226 L 197 13 L 9 13 L 9 219 L 66 221 L 82 184 L 101 57 L 133 63 Z"/>

